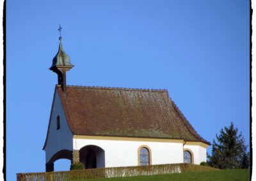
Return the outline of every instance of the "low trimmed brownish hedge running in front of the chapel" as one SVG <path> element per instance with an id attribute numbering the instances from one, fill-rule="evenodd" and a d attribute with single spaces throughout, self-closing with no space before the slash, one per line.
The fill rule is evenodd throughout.
<path id="1" fill-rule="evenodd" d="M 157 175 L 166 173 L 184 173 L 188 171 L 213 171 L 218 170 L 209 166 L 196 164 L 157 164 L 150 166 L 127 166 L 115 168 L 94 168 L 71 171 L 52 171 L 42 173 L 17 173 L 17 181 L 51 181 L 51 180 L 75 180 L 85 178 L 110 178 L 132 177 L 138 175 Z"/>

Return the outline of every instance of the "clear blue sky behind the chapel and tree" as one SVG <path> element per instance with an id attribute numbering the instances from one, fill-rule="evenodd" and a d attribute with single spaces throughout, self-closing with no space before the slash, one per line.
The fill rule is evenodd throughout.
<path id="1" fill-rule="evenodd" d="M 167 89 L 211 141 L 234 122 L 250 143 L 250 2 L 6 1 L 7 178 L 45 170 L 42 150 L 63 47 L 68 85 Z M 208 148 L 211 153 L 211 147 Z M 69 161 L 55 163 L 68 170 Z"/>

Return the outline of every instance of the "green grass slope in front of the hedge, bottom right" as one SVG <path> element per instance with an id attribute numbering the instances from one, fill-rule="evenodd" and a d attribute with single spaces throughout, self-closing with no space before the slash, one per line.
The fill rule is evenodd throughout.
<path id="1" fill-rule="evenodd" d="M 138 176 L 138 177 L 119 177 L 119 178 L 95 178 L 86 179 L 84 181 L 167 181 L 167 180 L 225 180 L 225 181 L 238 181 L 238 180 L 250 180 L 249 170 L 220 170 L 220 171 L 194 171 L 188 173 L 172 173 L 166 175 L 150 175 L 150 176 Z M 76 180 L 83 181 L 83 180 Z"/>

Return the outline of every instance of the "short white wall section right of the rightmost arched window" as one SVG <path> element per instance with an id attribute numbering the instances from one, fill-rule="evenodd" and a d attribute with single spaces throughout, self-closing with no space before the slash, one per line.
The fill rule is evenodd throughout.
<path id="1" fill-rule="evenodd" d="M 193 163 L 200 164 L 206 162 L 206 148 L 200 145 L 184 145 L 184 150 L 189 149 L 193 154 Z"/>

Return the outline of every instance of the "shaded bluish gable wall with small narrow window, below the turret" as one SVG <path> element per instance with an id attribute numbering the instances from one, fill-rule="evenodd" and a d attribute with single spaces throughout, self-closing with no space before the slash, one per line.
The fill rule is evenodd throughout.
<path id="1" fill-rule="evenodd" d="M 54 154 L 56 154 L 56 152 L 60 150 L 73 150 L 73 135 L 68 127 L 58 91 L 56 91 L 55 94 L 56 95 L 52 103 L 53 106 L 50 118 L 49 137 L 45 147 L 46 163 L 52 156 L 54 156 Z M 60 129 L 57 130 L 56 119 L 58 116 L 60 116 Z"/>

